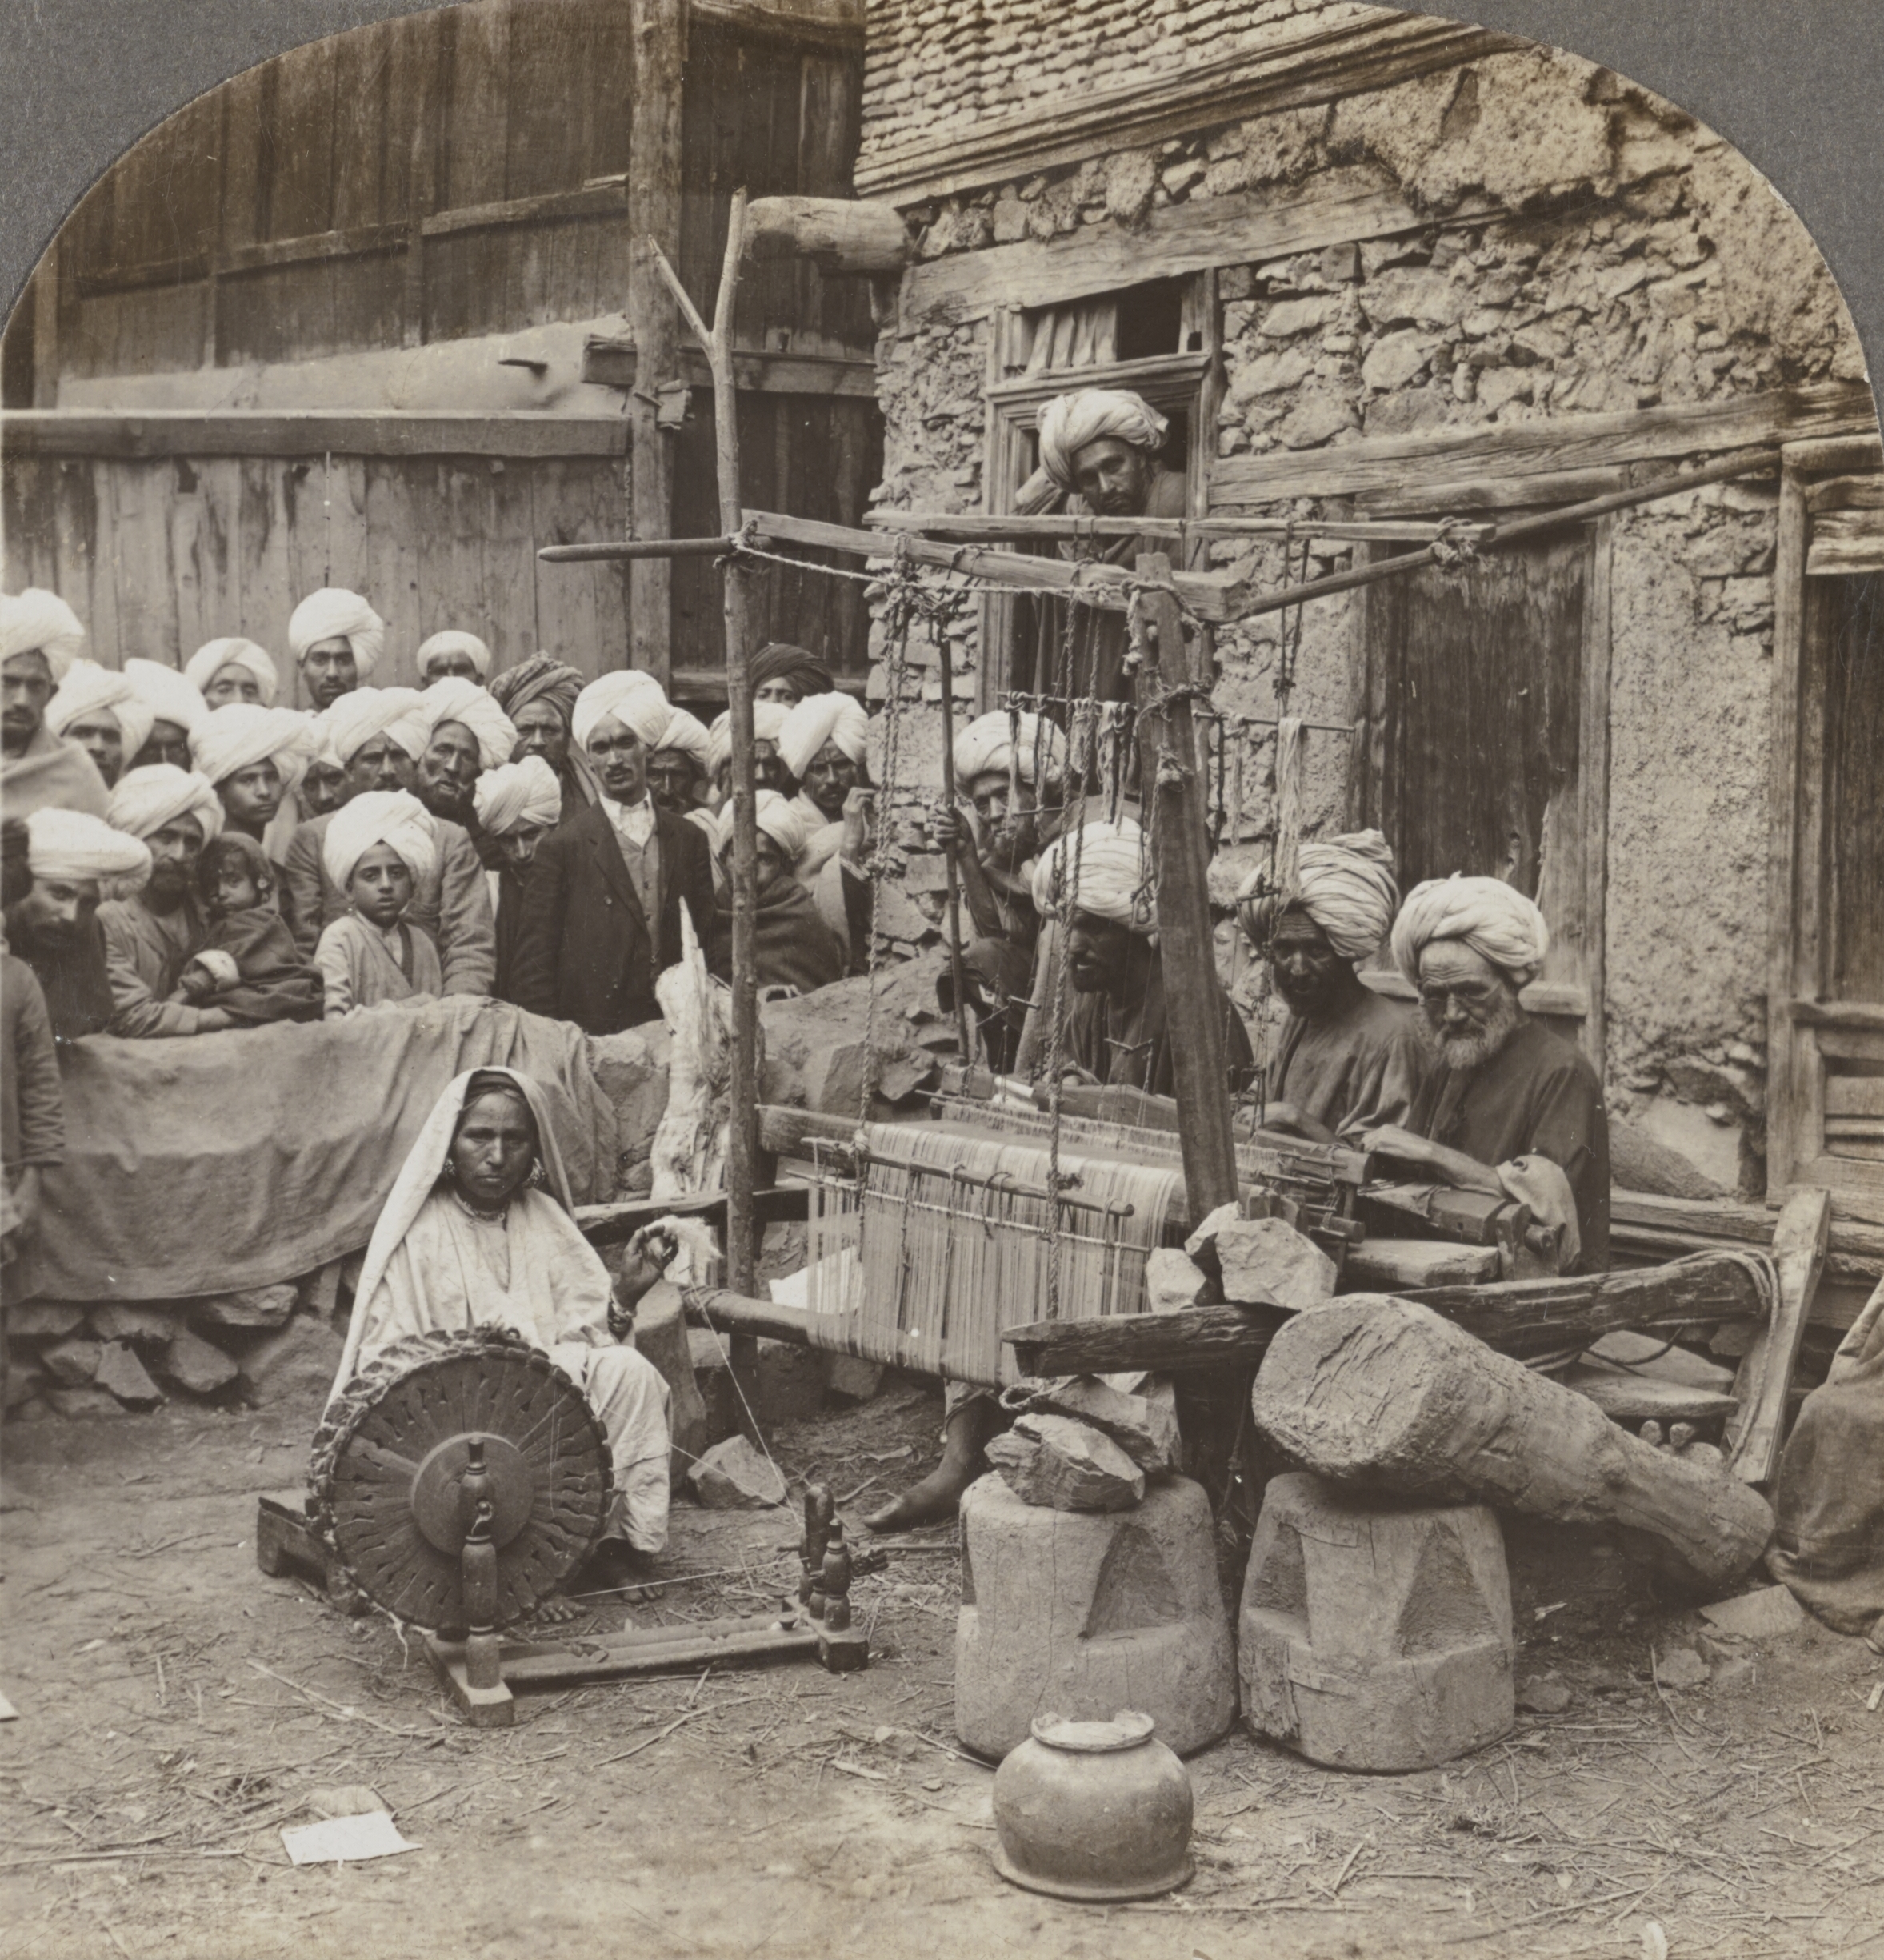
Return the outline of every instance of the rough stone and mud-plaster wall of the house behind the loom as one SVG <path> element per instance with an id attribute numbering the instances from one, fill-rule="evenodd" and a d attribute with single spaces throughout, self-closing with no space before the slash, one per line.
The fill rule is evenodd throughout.
<path id="1" fill-rule="evenodd" d="M 966 6 L 883 12 L 899 24 L 938 12 L 981 20 Z M 1013 25 L 1024 12 L 1001 18 Z M 1326 14 L 1345 20 L 1355 10 Z M 1163 39 L 1154 33 L 1144 59 L 1155 67 L 1157 49 L 1187 59 L 1216 51 L 1201 16 L 1146 10 L 1146 33 Z M 1287 31 L 1304 25 L 1296 18 Z M 875 10 L 871 33 L 866 102 L 881 106 L 889 98 L 877 82 L 885 63 L 907 67 L 909 35 L 879 43 Z M 1036 63 L 1026 35 L 1007 45 L 1016 73 Z M 985 59 L 975 73 L 983 104 L 1003 100 L 989 92 Z M 1036 63 L 1026 73 L 1044 71 Z M 1034 82 L 1022 76 L 1016 86 Z M 1061 86 L 1073 80 L 1061 74 Z M 895 135 L 907 129 L 881 116 L 866 123 L 866 161 L 871 143 Z M 1220 459 L 1862 376 L 1833 278 L 1765 178 L 1671 104 L 1543 49 L 1199 127 L 1150 151 L 1095 155 L 909 216 L 922 255 L 940 257 L 1103 220 L 1146 225 L 1171 204 L 1226 194 L 1281 204 L 1377 190 L 1402 192 L 1432 223 L 1218 269 L 1224 392 L 1204 433 Z M 885 337 L 877 502 L 979 508 L 989 331 L 983 319 Z M 1291 506 L 1214 508 L 1277 515 Z M 1293 506 L 1310 533 L 1314 517 L 1349 510 L 1342 500 Z M 1743 1190 L 1763 1176 L 1774 510 L 1770 486 L 1718 486 L 1614 523 L 1612 1107 L 1714 1182 Z M 1273 545 L 1216 545 L 1212 559 L 1265 580 L 1283 572 Z M 1345 563 L 1334 541 L 1316 541 L 1308 572 Z M 1277 633 L 1265 619 L 1218 635 L 1220 708 L 1273 711 Z M 971 613 L 954 647 L 966 698 L 979 659 Z M 924 659 L 932 653 L 918 643 L 905 670 L 913 715 L 940 692 Z M 1349 659 L 1349 604 L 1308 608 L 1296 711 L 1345 721 Z M 883 692 L 879 666 L 879 700 Z M 1342 827 L 1345 749 L 1343 737 L 1308 741 L 1310 835 Z M 1220 898 L 1271 829 L 1267 751 L 1246 757 L 1244 790 L 1232 813 L 1236 843 L 1212 872 Z M 1230 933 L 1220 951 L 1236 964 Z"/>

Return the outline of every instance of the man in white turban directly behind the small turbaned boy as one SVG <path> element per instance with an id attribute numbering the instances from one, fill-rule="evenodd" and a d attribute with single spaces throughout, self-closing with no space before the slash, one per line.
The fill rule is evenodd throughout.
<path id="1" fill-rule="evenodd" d="M 411 790 L 431 739 L 425 696 L 417 688 L 354 688 L 321 719 L 327 749 L 343 770 L 345 802 L 298 825 L 282 864 L 282 909 L 304 956 L 313 955 L 321 931 L 345 917 L 349 906 L 345 888 L 327 872 L 327 829 L 360 796 Z M 437 817 L 433 829 L 435 860 L 417 880 L 407 921 L 437 947 L 443 992 L 490 994 L 497 949 L 484 864 L 462 823 Z"/>

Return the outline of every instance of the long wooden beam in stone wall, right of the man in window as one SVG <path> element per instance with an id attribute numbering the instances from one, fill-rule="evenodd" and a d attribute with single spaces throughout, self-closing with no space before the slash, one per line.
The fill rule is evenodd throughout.
<path id="1" fill-rule="evenodd" d="M 1616 468 L 1659 457 L 1766 449 L 1808 433 L 1872 427 L 1876 408 L 1864 382 L 1819 382 L 1698 408 L 1541 416 L 1508 427 L 1492 423 L 1453 433 L 1377 435 L 1283 457 L 1228 457 L 1212 466 L 1210 504 L 1214 510 L 1295 496 L 1406 492 L 1414 484 L 1443 488 L 1488 476 L 1510 480 L 1551 470 Z"/>

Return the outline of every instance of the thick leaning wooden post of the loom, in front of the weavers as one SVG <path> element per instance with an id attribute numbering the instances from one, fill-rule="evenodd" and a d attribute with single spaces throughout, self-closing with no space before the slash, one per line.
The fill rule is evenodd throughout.
<path id="1" fill-rule="evenodd" d="M 1167 580 L 1171 561 L 1161 551 L 1144 551 L 1138 572 Z M 1144 809 L 1155 841 L 1157 956 L 1177 1076 L 1177 1135 L 1191 1221 L 1197 1223 L 1238 1198 L 1236 1139 L 1230 1131 L 1224 996 L 1216 984 L 1210 933 L 1204 782 L 1197 766 L 1191 702 L 1183 694 L 1191 686 L 1183 615 L 1169 592 L 1150 594 L 1148 606 L 1157 641 L 1138 674 L 1138 753 Z"/>

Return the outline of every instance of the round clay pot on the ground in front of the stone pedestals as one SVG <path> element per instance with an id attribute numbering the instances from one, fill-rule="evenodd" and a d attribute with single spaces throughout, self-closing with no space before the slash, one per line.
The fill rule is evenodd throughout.
<path id="1" fill-rule="evenodd" d="M 1056 1899 L 1150 1899 L 1191 1876 L 1191 1778 L 1152 1717 L 1036 1715 L 995 1772 L 995 1870 Z"/>

